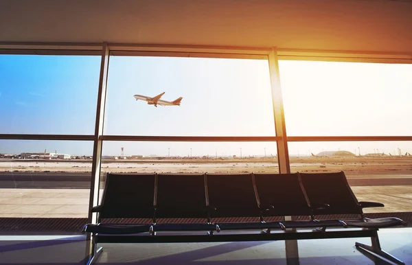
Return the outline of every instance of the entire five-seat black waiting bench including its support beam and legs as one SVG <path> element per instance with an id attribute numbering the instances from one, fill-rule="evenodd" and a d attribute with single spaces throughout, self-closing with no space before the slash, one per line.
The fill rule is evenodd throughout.
<path id="1" fill-rule="evenodd" d="M 320 174 L 107 174 L 102 202 L 91 211 L 98 224 L 91 233 L 93 263 L 102 242 L 232 242 L 321 238 L 371 238 L 362 251 L 404 264 L 382 251 L 378 229 L 407 225 L 399 218 L 369 219 L 344 172 Z M 358 218 L 331 219 L 331 214 Z M 296 220 L 294 216 L 308 216 Z M 288 217 L 287 220 L 285 217 Z M 143 218 L 148 222 L 115 224 L 107 218 Z M 168 222 L 179 218 L 179 223 Z M 192 220 L 201 220 L 192 222 Z M 233 221 L 236 219 L 245 222 Z M 165 220 L 165 221 L 161 221 Z"/>

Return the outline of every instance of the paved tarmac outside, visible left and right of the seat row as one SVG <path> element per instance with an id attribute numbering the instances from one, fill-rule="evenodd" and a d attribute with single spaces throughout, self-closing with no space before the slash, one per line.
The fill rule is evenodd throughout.
<path id="1" fill-rule="evenodd" d="M 90 178 L 89 173 L 0 172 L 0 218 L 86 218 Z M 347 178 L 358 200 L 385 205 L 365 213 L 412 211 L 412 175 Z"/>

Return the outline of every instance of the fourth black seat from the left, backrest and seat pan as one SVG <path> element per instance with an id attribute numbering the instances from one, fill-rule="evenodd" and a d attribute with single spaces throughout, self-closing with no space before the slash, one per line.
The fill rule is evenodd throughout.
<path id="1" fill-rule="evenodd" d="M 254 174 L 262 216 L 312 216 L 299 174 Z M 321 207 L 321 205 L 318 205 Z M 282 221 L 282 228 L 341 227 L 339 220 Z"/>

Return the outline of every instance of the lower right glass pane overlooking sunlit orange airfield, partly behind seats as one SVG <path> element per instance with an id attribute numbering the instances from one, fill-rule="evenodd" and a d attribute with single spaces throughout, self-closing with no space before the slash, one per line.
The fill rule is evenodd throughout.
<path id="1" fill-rule="evenodd" d="M 358 200 L 385 207 L 365 213 L 412 211 L 411 141 L 289 142 L 291 172 L 343 170 Z"/>

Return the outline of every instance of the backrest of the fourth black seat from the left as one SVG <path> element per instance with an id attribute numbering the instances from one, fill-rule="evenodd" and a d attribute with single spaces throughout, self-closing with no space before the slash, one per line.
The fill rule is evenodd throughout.
<path id="1" fill-rule="evenodd" d="M 310 207 L 294 174 L 255 174 L 260 207 L 273 206 L 264 216 L 310 216 Z"/>

